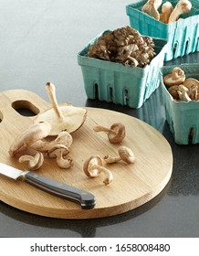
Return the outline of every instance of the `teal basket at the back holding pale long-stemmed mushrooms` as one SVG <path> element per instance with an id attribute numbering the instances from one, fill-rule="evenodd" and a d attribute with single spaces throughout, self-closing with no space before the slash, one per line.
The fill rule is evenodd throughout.
<path id="1" fill-rule="evenodd" d="M 184 14 L 181 16 L 183 19 L 170 24 L 164 24 L 141 12 L 141 8 L 146 2 L 147 0 L 142 0 L 139 3 L 126 5 L 126 14 L 129 16 L 131 27 L 139 30 L 141 35 L 158 37 L 168 41 L 168 52 L 165 54 L 166 61 L 199 51 L 198 0 L 191 0 L 190 13 Z M 163 0 L 162 4 L 164 2 L 166 0 Z M 178 1 L 171 0 L 170 2 L 175 6 Z"/>

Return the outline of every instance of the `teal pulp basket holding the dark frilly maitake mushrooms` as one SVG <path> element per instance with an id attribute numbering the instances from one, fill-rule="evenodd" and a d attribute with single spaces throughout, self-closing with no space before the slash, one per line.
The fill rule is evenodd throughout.
<path id="1" fill-rule="evenodd" d="M 131 68 L 120 63 L 87 57 L 89 46 L 110 31 L 101 32 L 78 53 L 78 64 L 87 97 L 138 109 L 159 87 L 158 73 L 163 65 L 167 42 L 153 38 L 156 56 L 145 68 Z"/>

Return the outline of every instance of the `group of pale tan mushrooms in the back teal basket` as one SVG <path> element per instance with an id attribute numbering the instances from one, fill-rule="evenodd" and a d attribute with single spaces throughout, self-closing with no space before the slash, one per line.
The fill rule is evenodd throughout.
<path id="1" fill-rule="evenodd" d="M 158 10 L 160 7 L 161 12 Z M 141 11 L 162 23 L 169 24 L 177 21 L 183 14 L 189 13 L 191 9 L 192 3 L 189 0 L 179 0 L 175 6 L 169 1 L 162 4 L 162 0 L 148 0 Z"/>

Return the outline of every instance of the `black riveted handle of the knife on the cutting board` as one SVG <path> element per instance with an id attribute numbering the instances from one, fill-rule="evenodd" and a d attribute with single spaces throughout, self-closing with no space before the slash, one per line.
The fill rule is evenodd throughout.
<path id="1" fill-rule="evenodd" d="M 95 196 L 77 187 L 71 187 L 45 176 L 38 176 L 33 172 L 26 172 L 24 180 L 26 183 L 42 189 L 49 194 L 79 203 L 83 209 L 94 208 L 95 206 Z"/>

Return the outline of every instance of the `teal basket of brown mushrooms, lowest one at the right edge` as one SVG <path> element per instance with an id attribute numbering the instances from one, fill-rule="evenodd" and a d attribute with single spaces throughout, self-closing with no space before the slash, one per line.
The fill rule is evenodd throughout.
<path id="1" fill-rule="evenodd" d="M 176 144 L 199 144 L 199 101 L 173 101 L 162 80 L 174 67 L 163 66 L 160 70 L 166 121 Z M 186 78 L 199 80 L 199 64 L 182 64 L 180 68 Z"/>

